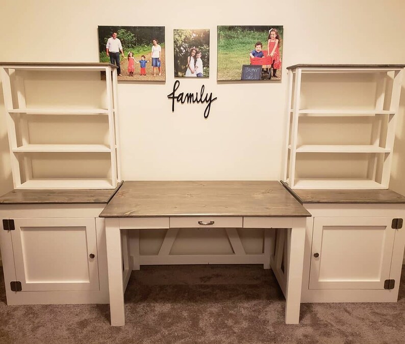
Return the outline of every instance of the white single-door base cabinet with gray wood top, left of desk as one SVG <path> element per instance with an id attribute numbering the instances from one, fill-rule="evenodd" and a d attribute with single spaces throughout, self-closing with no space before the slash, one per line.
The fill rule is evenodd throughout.
<path id="1" fill-rule="evenodd" d="M 7 304 L 108 303 L 111 190 L 14 190 L 0 197 Z"/>

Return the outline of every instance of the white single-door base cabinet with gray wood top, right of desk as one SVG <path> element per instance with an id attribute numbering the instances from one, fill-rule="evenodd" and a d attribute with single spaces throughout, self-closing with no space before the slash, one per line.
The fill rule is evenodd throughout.
<path id="1" fill-rule="evenodd" d="M 405 197 L 389 189 L 287 190 L 312 215 L 301 302 L 396 302 Z"/>

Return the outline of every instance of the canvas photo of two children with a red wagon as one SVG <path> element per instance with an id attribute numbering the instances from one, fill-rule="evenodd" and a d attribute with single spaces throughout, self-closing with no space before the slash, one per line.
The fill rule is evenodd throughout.
<path id="1" fill-rule="evenodd" d="M 280 81 L 283 26 L 218 26 L 218 81 Z"/>

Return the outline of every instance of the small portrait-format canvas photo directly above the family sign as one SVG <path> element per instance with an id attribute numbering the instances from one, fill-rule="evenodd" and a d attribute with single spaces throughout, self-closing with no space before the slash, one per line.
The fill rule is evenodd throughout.
<path id="1" fill-rule="evenodd" d="M 210 76 L 210 30 L 174 29 L 174 77 Z"/>

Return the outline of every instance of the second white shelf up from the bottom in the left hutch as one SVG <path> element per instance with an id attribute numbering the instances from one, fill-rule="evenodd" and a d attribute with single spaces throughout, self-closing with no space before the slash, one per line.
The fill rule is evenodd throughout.
<path id="1" fill-rule="evenodd" d="M 13 152 L 110 152 L 111 149 L 106 145 L 39 145 L 27 144 L 13 148 Z"/>

